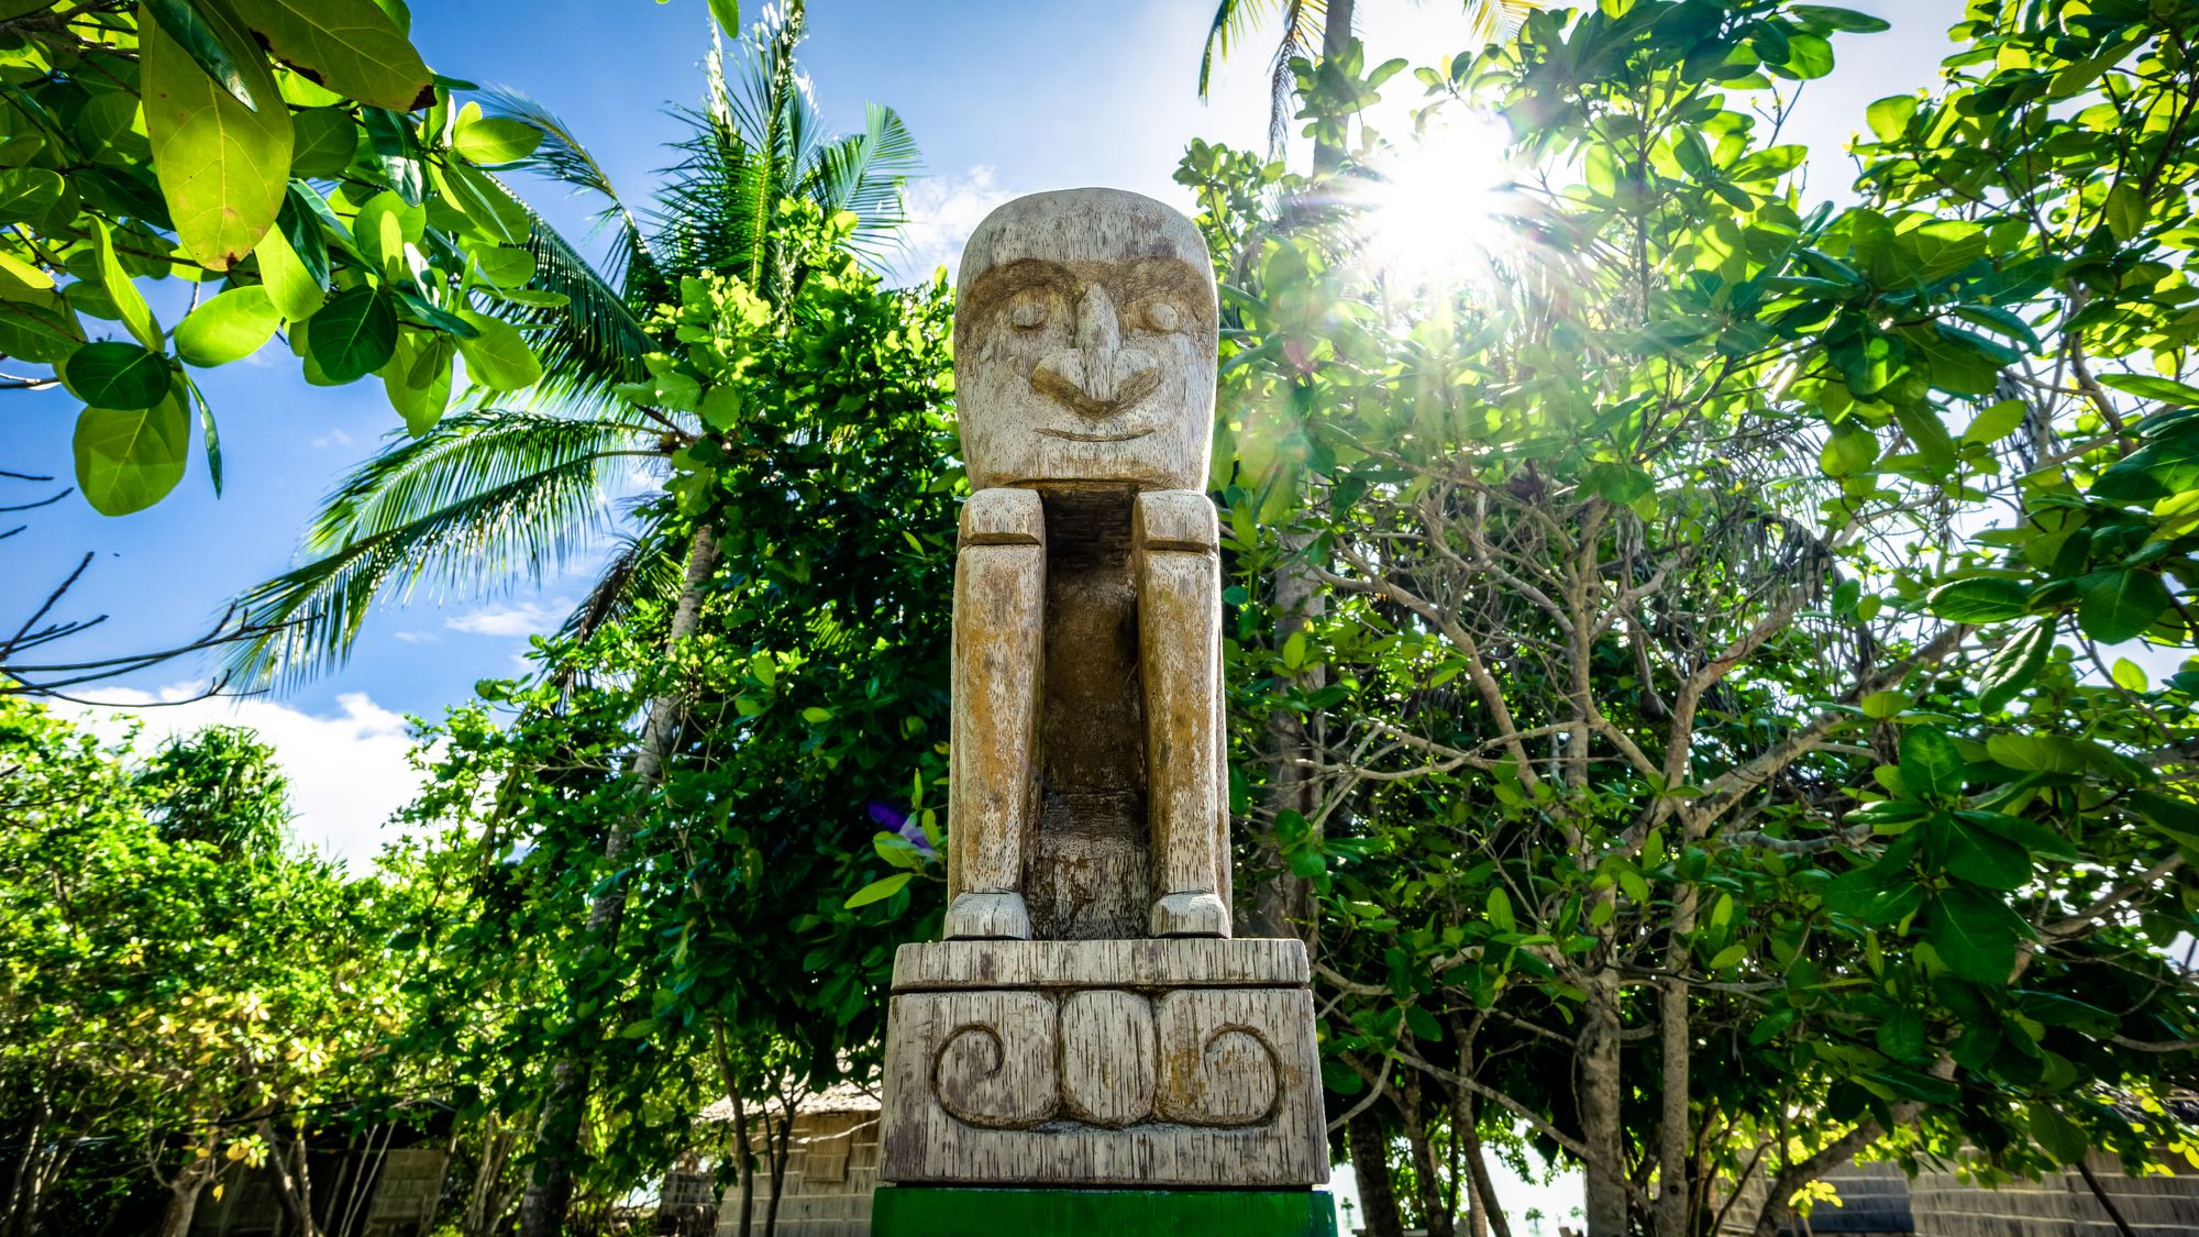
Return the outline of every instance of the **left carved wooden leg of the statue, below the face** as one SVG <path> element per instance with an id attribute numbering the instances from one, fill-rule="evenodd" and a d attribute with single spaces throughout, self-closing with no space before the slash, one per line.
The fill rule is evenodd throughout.
<path id="1" fill-rule="evenodd" d="M 948 940 L 1029 940 L 1023 836 L 1036 801 L 1047 546 L 1038 493 L 970 495 L 954 559 Z"/>

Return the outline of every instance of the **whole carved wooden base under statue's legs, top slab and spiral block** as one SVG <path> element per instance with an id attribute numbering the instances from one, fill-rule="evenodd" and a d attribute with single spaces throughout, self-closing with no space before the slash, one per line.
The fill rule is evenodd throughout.
<path id="1" fill-rule="evenodd" d="M 904 944 L 893 993 L 886 1182 L 1328 1180 L 1295 940 Z"/>

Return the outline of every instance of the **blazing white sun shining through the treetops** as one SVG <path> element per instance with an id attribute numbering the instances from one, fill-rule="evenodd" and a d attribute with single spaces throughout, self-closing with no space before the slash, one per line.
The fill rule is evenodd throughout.
<path id="1" fill-rule="evenodd" d="M 1511 134 L 1487 114 L 1434 114 L 1372 163 L 1355 194 L 1361 260 L 1390 280 L 1456 286 L 1502 271 L 1517 242 Z"/>

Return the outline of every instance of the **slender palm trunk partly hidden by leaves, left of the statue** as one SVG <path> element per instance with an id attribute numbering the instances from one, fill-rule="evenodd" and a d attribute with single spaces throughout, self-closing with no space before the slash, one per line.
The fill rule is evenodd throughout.
<path id="1" fill-rule="evenodd" d="M 717 537 L 708 526 L 695 528 L 688 544 L 686 577 L 679 583 L 679 605 L 673 610 L 673 627 L 666 645 L 677 649 L 701 623 L 701 601 L 710 577 L 717 572 Z M 673 737 L 679 733 L 679 715 L 686 707 L 682 691 L 666 691 L 649 702 L 649 720 L 642 722 L 642 742 L 633 753 L 633 781 L 649 795 L 664 781 L 664 762 L 671 757 Z M 611 865 L 627 854 L 633 839 L 622 828 L 614 828 L 603 839 L 603 858 Z M 614 883 L 587 907 L 587 938 L 614 942 L 618 922 L 627 911 L 627 891 Z M 528 1175 L 528 1193 L 519 1200 L 519 1237 L 561 1237 L 565 1233 L 565 1208 L 572 1206 L 574 1164 L 581 1158 L 581 1118 L 587 1109 L 589 1059 L 587 1041 L 592 1028 L 578 1028 L 581 1048 L 567 1052 L 550 1070 L 550 1096 L 543 1101 L 541 1127 L 534 1136 L 537 1160 Z"/>

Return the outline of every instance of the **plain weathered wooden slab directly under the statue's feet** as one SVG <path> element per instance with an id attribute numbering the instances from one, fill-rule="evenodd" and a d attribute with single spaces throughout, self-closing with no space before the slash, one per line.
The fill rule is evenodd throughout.
<path id="1" fill-rule="evenodd" d="M 941 940 L 893 955 L 895 993 L 957 988 L 1304 988 L 1295 938 Z"/>

